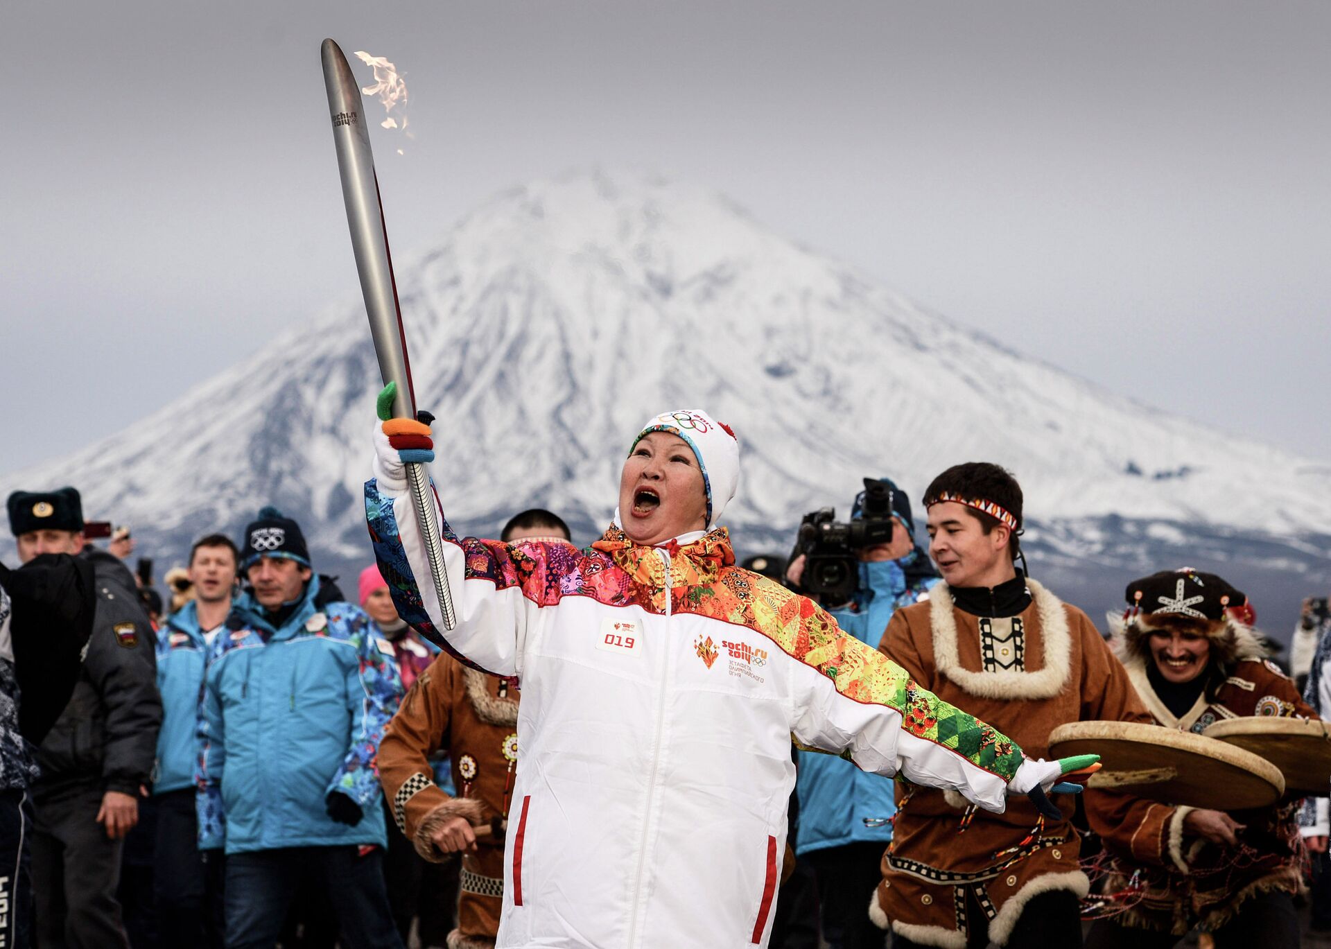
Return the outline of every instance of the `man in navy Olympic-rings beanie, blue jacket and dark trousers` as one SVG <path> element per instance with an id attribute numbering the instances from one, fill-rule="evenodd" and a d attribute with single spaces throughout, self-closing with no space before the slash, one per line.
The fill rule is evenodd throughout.
<path id="1" fill-rule="evenodd" d="M 253 592 L 209 651 L 198 721 L 198 837 L 226 851 L 226 945 L 270 949 L 313 874 L 343 946 L 401 949 L 374 765 L 402 696 L 393 647 L 359 607 L 319 595 L 280 511 L 245 528 L 241 558 Z"/>

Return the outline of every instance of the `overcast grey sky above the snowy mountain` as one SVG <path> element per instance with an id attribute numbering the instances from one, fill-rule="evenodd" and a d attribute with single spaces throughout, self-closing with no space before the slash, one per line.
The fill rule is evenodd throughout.
<path id="1" fill-rule="evenodd" d="M 0 25 L 0 471 L 357 298 L 325 36 L 406 75 L 417 137 L 374 140 L 399 258 L 511 185 L 650 168 L 1013 349 L 1331 459 L 1320 0 L 21 3 Z"/>

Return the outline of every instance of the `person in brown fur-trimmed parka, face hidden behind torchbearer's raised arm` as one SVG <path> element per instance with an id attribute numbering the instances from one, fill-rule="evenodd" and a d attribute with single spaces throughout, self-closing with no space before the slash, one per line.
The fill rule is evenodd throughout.
<path id="1" fill-rule="evenodd" d="M 449 949 L 488 949 L 503 906 L 504 816 L 518 748 L 518 688 L 441 654 L 402 700 L 379 743 L 379 783 L 393 816 L 431 861 L 462 853 L 458 928 Z M 458 797 L 431 780 L 446 749 Z"/>

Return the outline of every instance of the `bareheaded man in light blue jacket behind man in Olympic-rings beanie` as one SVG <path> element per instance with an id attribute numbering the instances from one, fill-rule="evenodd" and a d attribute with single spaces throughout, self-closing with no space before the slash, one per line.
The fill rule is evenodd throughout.
<path id="1" fill-rule="evenodd" d="M 198 849 L 194 767 L 198 764 L 198 692 L 204 663 L 232 611 L 240 551 L 224 534 L 209 534 L 189 551 L 194 599 L 157 632 L 157 852 L 153 874 L 162 945 L 221 949 L 221 853 L 212 862 Z"/>

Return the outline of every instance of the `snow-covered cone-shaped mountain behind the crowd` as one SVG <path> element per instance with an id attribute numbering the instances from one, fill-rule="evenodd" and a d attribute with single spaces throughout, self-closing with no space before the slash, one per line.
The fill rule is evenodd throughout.
<path id="1" fill-rule="evenodd" d="M 1094 566 L 1117 590 L 1205 535 L 1201 562 L 1328 586 L 1331 467 L 1001 346 L 700 189 L 602 172 L 519 188 L 399 260 L 398 289 L 417 401 L 438 415 L 434 476 L 469 531 L 539 503 L 587 539 L 636 427 L 697 406 L 740 438 L 727 520 L 751 551 L 787 546 L 804 511 L 844 514 L 864 475 L 917 502 L 948 465 L 986 459 L 1021 479 L 1028 546 L 1067 578 Z M 134 524 L 164 562 L 264 503 L 323 556 L 365 560 L 379 378 L 354 291 L 349 270 L 342 306 L 3 490 L 76 483 L 89 516 Z"/>

